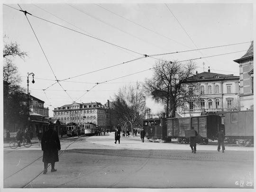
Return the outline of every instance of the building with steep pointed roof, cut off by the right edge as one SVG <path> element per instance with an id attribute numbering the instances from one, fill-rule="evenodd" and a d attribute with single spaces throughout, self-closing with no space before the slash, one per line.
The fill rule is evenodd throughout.
<path id="1" fill-rule="evenodd" d="M 253 110 L 253 42 L 247 53 L 234 62 L 239 64 L 240 108 Z"/>

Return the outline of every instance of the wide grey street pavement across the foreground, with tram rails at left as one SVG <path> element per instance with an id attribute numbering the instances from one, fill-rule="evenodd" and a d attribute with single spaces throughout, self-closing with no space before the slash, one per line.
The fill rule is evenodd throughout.
<path id="1" fill-rule="evenodd" d="M 42 158 L 38 158 L 41 151 L 19 150 L 4 155 L 4 187 L 21 188 L 30 181 L 27 188 L 252 187 L 251 151 L 201 150 L 193 154 L 190 150 L 100 149 L 85 144 L 95 147 L 66 150 L 56 163 L 57 172 L 35 180 L 43 169 Z M 236 183 L 240 181 L 245 182 L 244 186 Z"/>

